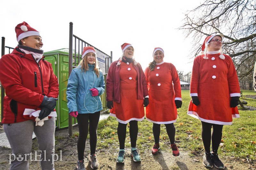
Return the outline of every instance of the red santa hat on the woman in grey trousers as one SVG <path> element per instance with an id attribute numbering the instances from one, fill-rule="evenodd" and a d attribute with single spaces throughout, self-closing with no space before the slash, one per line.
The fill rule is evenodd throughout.
<path id="1" fill-rule="evenodd" d="M 21 39 L 26 37 L 37 35 L 40 36 L 39 32 L 32 28 L 28 23 L 23 21 L 15 27 L 17 41 L 19 42 Z M 41 36 L 40 36 L 41 37 Z"/>

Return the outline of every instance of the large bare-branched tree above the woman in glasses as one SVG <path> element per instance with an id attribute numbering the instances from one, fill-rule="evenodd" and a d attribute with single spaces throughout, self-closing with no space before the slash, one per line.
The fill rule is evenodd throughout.
<path id="1" fill-rule="evenodd" d="M 232 57 L 236 69 L 243 72 L 243 79 L 253 71 L 256 60 L 256 1 L 255 0 L 206 0 L 185 14 L 184 24 L 179 28 L 186 37 L 193 37 L 194 56 L 201 51 L 206 36 L 222 33 L 223 52 Z"/>

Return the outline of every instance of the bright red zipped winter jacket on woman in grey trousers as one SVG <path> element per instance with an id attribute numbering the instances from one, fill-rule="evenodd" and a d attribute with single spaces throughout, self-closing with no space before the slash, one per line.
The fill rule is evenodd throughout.
<path id="1" fill-rule="evenodd" d="M 28 120 L 23 117 L 26 108 L 36 110 L 44 95 L 57 98 L 59 94 L 52 64 L 44 57 L 37 63 L 31 54 L 22 53 L 18 47 L 0 59 L 0 81 L 6 93 L 3 124 Z"/>

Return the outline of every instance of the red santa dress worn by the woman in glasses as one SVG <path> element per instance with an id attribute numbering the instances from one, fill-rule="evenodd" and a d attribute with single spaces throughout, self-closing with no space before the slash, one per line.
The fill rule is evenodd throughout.
<path id="1" fill-rule="evenodd" d="M 220 53 L 199 55 L 194 60 L 190 96 L 198 96 L 200 104 L 189 103 L 188 115 L 203 122 L 230 125 L 239 117 L 237 107 L 230 107 L 231 97 L 240 96 L 236 68 L 230 56 L 220 59 Z"/>

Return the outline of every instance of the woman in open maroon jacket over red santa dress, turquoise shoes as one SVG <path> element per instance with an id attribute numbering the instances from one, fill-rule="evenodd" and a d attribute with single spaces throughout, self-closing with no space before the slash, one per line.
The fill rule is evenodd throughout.
<path id="1" fill-rule="evenodd" d="M 147 82 L 140 63 L 133 58 L 133 46 L 124 43 L 121 48 L 122 57 L 111 63 L 106 82 L 107 107 L 110 109 L 110 115 L 116 117 L 118 121 L 119 153 L 116 162 L 124 163 L 124 143 L 128 123 L 130 125 L 131 156 L 133 161 L 140 162 L 136 141 L 138 121 L 144 119 L 144 107 L 148 105 Z"/>

